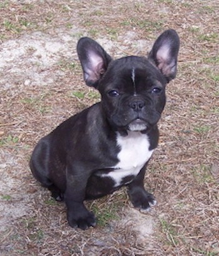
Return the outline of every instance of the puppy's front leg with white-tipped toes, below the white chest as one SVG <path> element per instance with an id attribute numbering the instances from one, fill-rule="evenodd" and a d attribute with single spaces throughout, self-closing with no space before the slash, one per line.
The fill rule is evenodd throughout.
<path id="1" fill-rule="evenodd" d="M 146 165 L 141 169 L 136 178 L 128 184 L 128 195 L 130 196 L 131 203 L 135 208 L 143 211 L 147 211 L 150 209 L 150 206 L 156 205 L 154 196 L 148 193 L 144 187 L 145 171 Z"/>

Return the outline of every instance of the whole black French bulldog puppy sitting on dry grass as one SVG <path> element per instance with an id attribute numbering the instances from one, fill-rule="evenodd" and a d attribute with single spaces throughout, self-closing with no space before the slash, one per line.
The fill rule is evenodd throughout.
<path id="1" fill-rule="evenodd" d="M 36 145 L 33 175 L 52 196 L 66 202 L 71 227 L 96 225 L 83 201 L 121 186 L 136 208 L 155 205 L 145 191 L 145 169 L 158 144 L 157 122 L 165 107 L 166 83 L 175 78 L 180 40 L 173 29 L 155 41 L 148 58 L 112 58 L 90 38 L 78 41 L 88 86 L 101 102 L 70 117 Z"/>

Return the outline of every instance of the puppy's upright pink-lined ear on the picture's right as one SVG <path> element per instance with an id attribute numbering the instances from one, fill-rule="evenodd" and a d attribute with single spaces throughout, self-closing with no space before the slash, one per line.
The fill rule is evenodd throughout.
<path id="1" fill-rule="evenodd" d="M 148 56 L 149 60 L 155 63 L 168 82 L 176 77 L 179 48 L 180 38 L 178 34 L 175 30 L 168 29 L 155 41 Z"/>

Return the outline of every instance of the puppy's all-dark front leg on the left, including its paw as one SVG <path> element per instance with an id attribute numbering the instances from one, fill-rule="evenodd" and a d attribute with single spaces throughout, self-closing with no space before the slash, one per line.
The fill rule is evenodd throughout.
<path id="1" fill-rule="evenodd" d="M 82 230 L 96 225 L 94 214 L 88 211 L 83 203 L 88 178 L 89 176 L 84 172 L 84 169 L 77 168 L 77 170 L 75 170 L 75 167 L 73 169 L 72 166 L 68 166 L 66 173 L 66 191 L 64 193 L 68 223 L 71 227 L 78 227 Z"/>

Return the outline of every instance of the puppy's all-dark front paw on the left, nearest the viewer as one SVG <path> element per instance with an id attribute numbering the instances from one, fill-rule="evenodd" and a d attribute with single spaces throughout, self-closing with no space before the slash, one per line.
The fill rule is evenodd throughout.
<path id="1" fill-rule="evenodd" d="M 68 211 L 68 223 L 73 228 L 86 230 L 89 227 L 96 226 L 96 219 L 94 214 L 86 210 L 84 207 L 83 210 L 77 209 L 74 211 Z"/>

